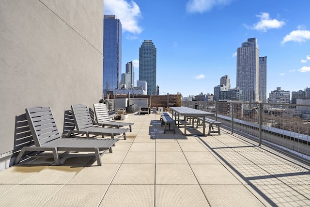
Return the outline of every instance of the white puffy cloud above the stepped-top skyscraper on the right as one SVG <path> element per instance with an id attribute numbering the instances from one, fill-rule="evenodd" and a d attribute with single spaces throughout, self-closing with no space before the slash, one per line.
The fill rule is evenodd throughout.
<path id="1" fill-rule="evenodd" d="M 280 21 L 278 19 L 271 19 L 268 13 L 261 12 L 260 15 L 256 15 L 261 20 L 255 23 L 252 27 L 246 26 L 248 29 L 267 32 L 269 29 L 279 29 L 283 25 L 285 25 L 284 21 Z"/>

